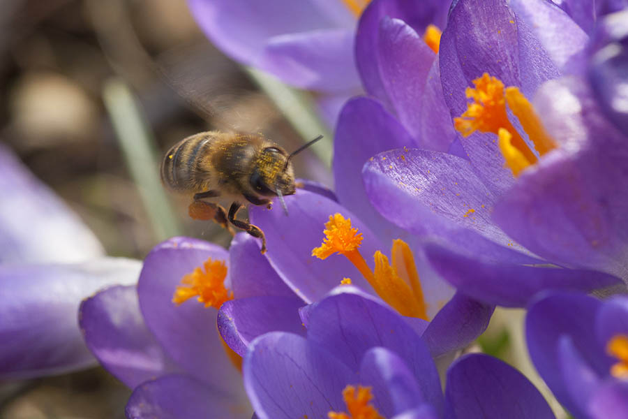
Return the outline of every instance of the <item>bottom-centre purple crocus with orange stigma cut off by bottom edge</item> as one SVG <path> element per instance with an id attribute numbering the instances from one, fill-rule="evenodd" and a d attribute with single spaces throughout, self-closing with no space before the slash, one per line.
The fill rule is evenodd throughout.
<path id="1" fill-rule="evenodd" d="M 443 397 L 415 330 L 351 286 L 301 318 L 306 336 L 271 332 L 248 348 L 244 383 L 260 419 L 554 417 L 523 375 L 486 355 L 454 362 Z"/>

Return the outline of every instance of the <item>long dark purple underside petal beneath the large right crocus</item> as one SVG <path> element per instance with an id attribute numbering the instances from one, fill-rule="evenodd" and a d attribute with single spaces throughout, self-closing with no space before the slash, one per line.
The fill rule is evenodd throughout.
<path id="1" fill-rule="evenodd" d="M 490 260 L 474 253 L 427 244 L 426 254 L 436 272 L 458 291 L 486 304 L 525 307 L 544 290 L 593 291 L 621 279 L 603 272 L 533 267 Z"/>

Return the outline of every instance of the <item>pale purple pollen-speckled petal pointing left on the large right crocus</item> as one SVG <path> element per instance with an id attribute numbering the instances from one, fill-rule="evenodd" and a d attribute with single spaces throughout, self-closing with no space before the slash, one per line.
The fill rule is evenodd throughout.
<path id="1" fill-rule="evenodd" d="M 493 195 L 464 159 L 425 150 L 394 150 L 366 163 L 362 176 L 377 211 L 410 233 L 435 235 L 456 249 L 474 249 L 495 260 L 543 263 L 515 251 L 518 246 L 492 224 L 488 212 Z"/>

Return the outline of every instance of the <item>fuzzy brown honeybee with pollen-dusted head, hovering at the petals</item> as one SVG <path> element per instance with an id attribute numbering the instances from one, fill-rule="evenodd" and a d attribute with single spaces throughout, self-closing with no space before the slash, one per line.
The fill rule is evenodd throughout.
<path id="1" fill-rule="evenodd" d="M 190 135 L 172 146 L 161 163 L 161 181 L 167 189 L 193 194 L 190 216 L 214 219 L 230 230 L 229 223 L 262 240 L 264 232 L 257 226 L 236 219 L 241 207 L 248 204 L 271 207 L 278 197 L 287 215 L 284 196 L 296 192 L 292 157 L 322 138 L 319 135 L 288 154 L 274 142 L 259 134 L 207 131 Z M 232 202 L 229 212 L 213 198 Z M 204 215 L 199 216 L 200 213 Z M 209 214 L 209 215 L 208 215 Z"/>

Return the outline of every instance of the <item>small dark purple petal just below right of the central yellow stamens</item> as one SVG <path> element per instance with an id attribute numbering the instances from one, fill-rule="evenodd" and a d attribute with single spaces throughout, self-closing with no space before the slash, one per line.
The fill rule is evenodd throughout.
<path id="1" fill-rule="evenodd" d="M 495 306 L 456 293 L 432 319 L 421 336 L 433 357 L 465 348 L 488 327 Z"/>

